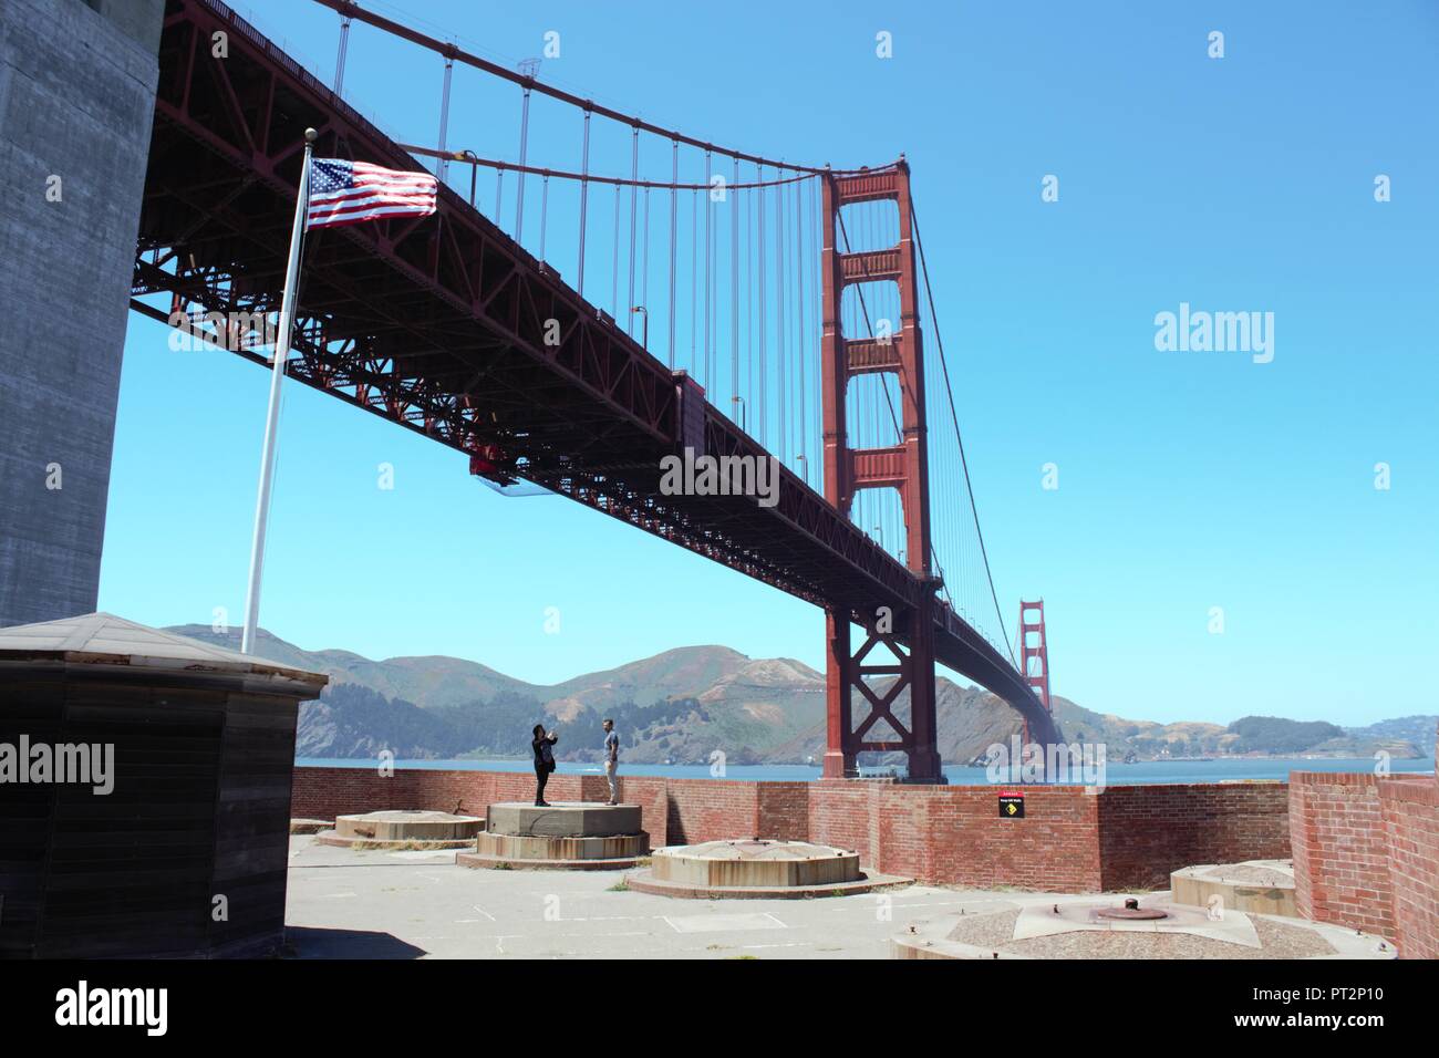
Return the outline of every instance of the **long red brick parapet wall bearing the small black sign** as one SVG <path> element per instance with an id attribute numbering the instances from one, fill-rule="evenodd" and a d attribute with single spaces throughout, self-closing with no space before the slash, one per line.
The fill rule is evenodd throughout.
<path id="1" fill-rule="evenodd" d="M 555 774 L 551 800 L 600 800 L 603 776 Z M 1284 785 L 1025 789 L 1025 819 L 999 816 L 999 787 L 899 786 L 881 780 L 743 783 L 620 776 L 643 809 L 650 845 L 721 838 L 814 841 L 856 849 L 886 874 L 932 884 L 1043 891 L 1164 887 L 1197 862 L 1288 855 Z M 528 800 L 514 772 L 298 767 L 292 815 L 332 819 L 380 809 L 484 813 Z"/>

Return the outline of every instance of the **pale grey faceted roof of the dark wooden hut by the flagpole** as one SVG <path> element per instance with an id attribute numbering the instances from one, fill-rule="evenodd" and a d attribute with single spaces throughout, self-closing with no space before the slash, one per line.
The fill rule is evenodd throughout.
<path id="1" fill-rule="evenodd" d="M 37 662 L 62 668 L 95 665 L 135 672 L 232 675 L 252 689 L 275 689 L 301 698 L 314 698 L 330 682 L 321 672 L 226 651 L 102 612 L 0 629 L 0 668 Z"/>

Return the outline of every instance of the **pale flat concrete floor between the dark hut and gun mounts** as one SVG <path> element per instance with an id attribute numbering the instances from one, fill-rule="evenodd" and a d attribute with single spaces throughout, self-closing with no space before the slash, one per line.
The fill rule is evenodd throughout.
<path id="1" fill-rule="evenodd" d="M 911 921 L 1014 907 L 1016 897 L 911 885 L 830 900 L 678 901 L 617 887 L 617 878 L 633 872 L 466 871 L 452 859 L 443 852 L 353 852 L 292 838 L 286 939 L 294 953 L 884 959 L 889 937 Z"/>

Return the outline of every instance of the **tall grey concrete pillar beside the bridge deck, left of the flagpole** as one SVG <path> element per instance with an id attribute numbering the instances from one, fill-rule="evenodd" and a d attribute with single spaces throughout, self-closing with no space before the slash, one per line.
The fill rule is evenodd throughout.
<path id="1" fill-rule="evenodd" d="M 95 609 L 163 13 L 4 0 L 0 626 Z"/>

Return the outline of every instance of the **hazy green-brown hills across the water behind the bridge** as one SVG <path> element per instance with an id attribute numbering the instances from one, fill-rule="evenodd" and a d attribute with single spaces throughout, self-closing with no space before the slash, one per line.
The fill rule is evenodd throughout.
<path id="1" fill-rule="evenodd" d="M 168 629 L 239 649 L 239 632 L 204 625 Z M 304 651 L 260 630 L 256 652 L 325 672 L 331 685 L 301 707 L 296 753 L 305 757 L 528 757 L 530 728 L 560 731 L 561 760 L 597 760 L 600 720 L 614 717 L 625 759 L 731 764 L 819 761 L 825 750 L 825 675 L 789 658 L 748 658 L 725 646 L 686 646 L 560 684 L 528 684 L 443 655 L 373 661 L 348 651 Z M 882 691 L 884 684 L 878 684 Z M 937 682 L 937 736 L 947 763 L 968 763 L 1022 730 L 1007 704 L 977 687 Z M 908 723 L 908 692 L 894 713 Z M 1104 743 L 1109 760 L 1274 754 L 1432 757 L 1439 717 L 1403 717 L 1364 728 L 1245 717 L 1233 724 L 1158 724 L 1094 713 L 1055 698 L 1068 741 Z M 876 736 L 882 730 L 875 731 Z"/>

